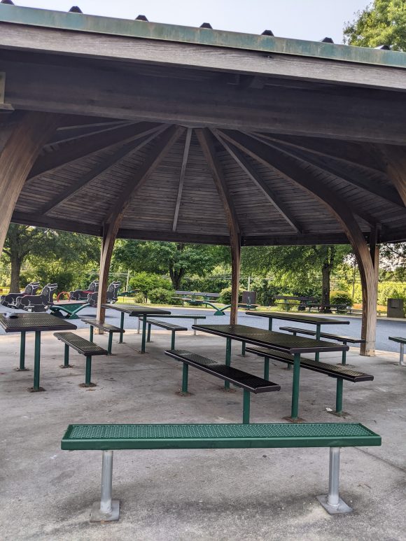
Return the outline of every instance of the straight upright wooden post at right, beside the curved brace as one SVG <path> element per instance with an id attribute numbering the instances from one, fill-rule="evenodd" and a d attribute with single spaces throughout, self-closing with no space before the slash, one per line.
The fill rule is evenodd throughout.
<path id="1" fill-rule="evenodd" d="M 361 272 L 361 284 L 363 290 L 363 317 L 361 325 L 361 338 L 365 344 L 360 346 L 360 355 L 374 356 L 375 339 L 377 334 L 377 297 L 378 297 L 378 272 L 379 272 L 379 228 L 372 227 L 370 233 L 370 259 L 373 274 L 367 279 L 367 273 Z M 363 265 L 358 261 L 358 265 Z M 369 274 L 368 274 L 369 276 Z"/>

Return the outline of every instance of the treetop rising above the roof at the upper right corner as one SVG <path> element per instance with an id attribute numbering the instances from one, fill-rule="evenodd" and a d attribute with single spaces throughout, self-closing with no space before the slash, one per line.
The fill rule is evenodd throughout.
<path id="1" fill-rule="evenodd" d="M 344 43 L 406 50 L 406 0 L 374 0 L 344 27 Z"/>

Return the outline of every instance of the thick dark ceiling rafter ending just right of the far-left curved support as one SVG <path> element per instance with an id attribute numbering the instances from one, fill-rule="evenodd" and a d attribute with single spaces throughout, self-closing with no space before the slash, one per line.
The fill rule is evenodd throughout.
<path id="1" fill-rule="evenodd" d="M 38 157 L 34 167 L 29 173 L 28 181 L 33 181 L 38 176 L 49 174 L 59 167 L 64 167 L 67 164 L 80 160 L 83 157 L 89 156 L 99 150 L 109 150 L 120 143 L 129 141 L 137 141 L 141 137 L 149 135 L 160 129 L 160 125 L 151 124 L 150 122 L 139 122 L 139 124 L 125 125 L 123 127 L 115 127 L 106 132 L 87 136 L 86 140 L 80 139 L 76 143 L 69 143 L 62 148 L 54 150 Z"/>

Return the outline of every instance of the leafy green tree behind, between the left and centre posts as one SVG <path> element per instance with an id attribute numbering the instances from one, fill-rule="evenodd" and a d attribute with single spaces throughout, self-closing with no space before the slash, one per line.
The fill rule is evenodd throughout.
<path id="1" fill-rule="evenodd" d="M 187 274 L 205 276 L 216 265 L 228 260 L 228 246 L 118 240 L 113 251 L 112 268 L 169 274 L 174 289 L 178 290 Z"/>

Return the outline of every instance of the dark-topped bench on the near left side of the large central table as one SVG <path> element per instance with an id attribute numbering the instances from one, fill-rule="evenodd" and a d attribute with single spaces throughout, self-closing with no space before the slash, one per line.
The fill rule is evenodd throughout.
<path id="1" fill-rule="evenodd" d="M 207 374 L 211 374 L 211 376 L 218 377 L 219 379 L 223 379 L 223 381 L 228 381 L 229 384 L 242 388 L 244 390 L 242 407 L 242 422 L 244 424 L 249 423 L 250 393 L 256 395 L 257 393 L 269 393 L 269 391 L 281 390 L 281 386 L 272 383 L 272 381 L 267 381 L 267 379 L 248 374 L 228 365 L 221 365 L 216 360 L 202 357 L 191 351 L 170 350 L 165 351 L 165 354 L 183 363 L 182 395 L 190 395 L 188 393 L 189 366 L 193 366 L 197 370 L 202 370 L 202 372 L 206 372 Z"/>

